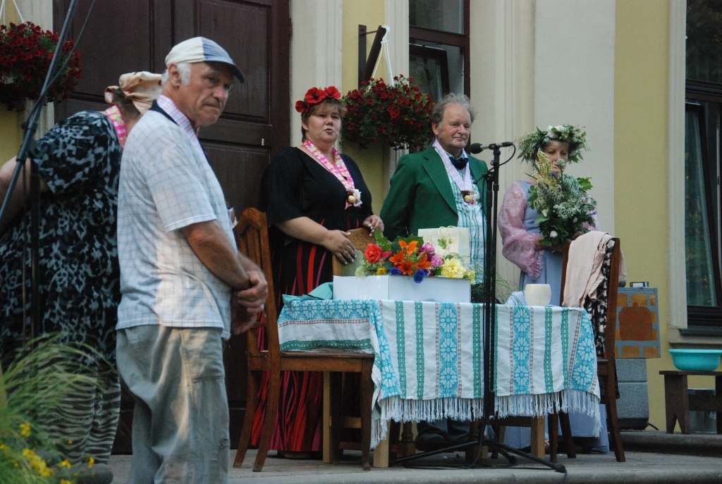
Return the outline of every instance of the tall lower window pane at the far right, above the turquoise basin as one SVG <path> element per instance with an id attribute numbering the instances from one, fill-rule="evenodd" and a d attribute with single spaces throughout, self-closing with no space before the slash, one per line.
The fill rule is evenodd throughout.
<path id="1" fill-rule="evenodd" d="M 685 128 L 684 243 L 687 252 L 687 304 L 717 306 L 700 119 L 697 113 L 687 111 Z"/>

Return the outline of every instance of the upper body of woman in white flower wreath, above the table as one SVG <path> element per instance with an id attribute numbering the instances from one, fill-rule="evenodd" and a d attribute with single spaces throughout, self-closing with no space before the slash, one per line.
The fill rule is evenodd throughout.
<path id="1" fill-rule="evenodd" d="M 535 164 L 541 151 L 551 162 L 555 177 L 562 174 L 567 163 L 579 162 L 582 150 L 588 150 L 586 133 L 568 124 L 549 126 L 547 131 L 537 128 L 519 142 L 519 158 Z M 504 244 L 502 253 L 521 269 L 521 289 L 526 284 L 549 284 L 552 286 L 551 304 L 558 306 L 562 287 L 563 243 L 549 245 L 540 234 L 539 224 L 536 223 L 539 212 L 529 203 L 529 189 L 534 183 L 534 180 L 514 182 L 504 195 L 498 219 Z M 595 224 L 586 226 L 586 229 L 598 230 L 596 211 L 592 216 Z M 552 231 L 551 236 L 555 235 Z"/>

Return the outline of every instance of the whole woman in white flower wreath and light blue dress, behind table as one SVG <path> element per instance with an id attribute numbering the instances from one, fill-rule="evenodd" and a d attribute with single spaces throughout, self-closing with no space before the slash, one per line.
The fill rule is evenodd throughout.
<path id="1" fill-rule="evenodd" d="M 562 126 L 549 126 L 546 131 L 533 131 L 521 138 L 519 142 L 519 158 L 534 165 L 537 170 L 535 177 L 539 176 L 539 169 L 549 164 L 540 163 L 539 158 L 549 160 L 551 175 L 557 179 L 564 172 L 568 163 L 579 162 L 582 157 L 580 151 L 588 151 L 586 133 L 575 126 L 568 124 Z M 541 151 L 541 154 L 539 153 Z M 543 156 L 542 156 L 543 154 Z M 543 177 L 539 177 L 543 178 Z M 560 181 L 560 185 L 564 185 Z M 562 286 L 562 258 L 565 240 L 557 237 L 558 234 L 550 231 L 544 239 L 536 219 L 539 212 L 531 206 L 529 198 L 535 190 L 536 180 L 527 179 L 512 183 L 504 195 L 504 201 L 499 211 L 499 231 L 503 239 L 502 253 L 505 258 L 515 263 L 521 269 L 519 286 L 523 289 L 526 284 L 549 284 L 552 287 L 551 304 L 560 304 L 560 291 Z M 593 205 L 591 205 L 593 206 Z M 543 213 L 544 217 L 548 214 Z M 596 221 L 596 211 L 591 211 L 593 224 L 585 224 L 583 229 L 599 230 Z M 582 232 L 572 234 L 571 238 L 578 237 Z M 601 405 L 601 432 L 599 437 L 593 434 L 594 419 L 585 413 L 571 412 L 569 414 L 572 434 L 577 444 L 583 449 L 609 450 L 609 439 L 606 435 L 606 417 L 604 405 Z M 531 443 L 531 429 L 509 427 L 506 431 L 505 444 L 516 448 L 529 446 Z M 547 441 L 547 445 L 549 441 Z"/>

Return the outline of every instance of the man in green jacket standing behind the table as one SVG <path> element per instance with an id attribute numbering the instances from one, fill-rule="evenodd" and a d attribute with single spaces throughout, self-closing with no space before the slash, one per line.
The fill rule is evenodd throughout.
<path id="1" fill-rule="evenodd" d="M 390 240 L 418 234 L 419 229 L 468 227 L 469 263 L 477 271 L 474 282 L 480 283 L 486 224 L 479 188 L 484 189 L 487 165 L 464 151 L 475 114 L 464 94 L 446 94 L 436 103 L 431 113 L 435 141 L 426 151 L 399 159 L 381 219 Z M 468 422 L 419 422 L 418 428 L 419 444 L 463 442 L 469 434 Z"/>

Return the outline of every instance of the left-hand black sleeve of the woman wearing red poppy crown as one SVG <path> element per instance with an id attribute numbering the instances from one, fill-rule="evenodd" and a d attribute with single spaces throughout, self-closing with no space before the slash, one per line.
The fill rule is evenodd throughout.
<path id="1" fill-rule="evenodd" d="M 300 205 L 303 170 L 303 162 L 293 148 L 282 150 L 266 168 L 259 205 L 269 225 L 305 216 Z"/>

